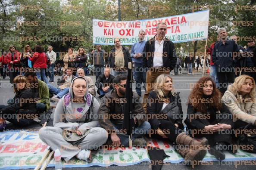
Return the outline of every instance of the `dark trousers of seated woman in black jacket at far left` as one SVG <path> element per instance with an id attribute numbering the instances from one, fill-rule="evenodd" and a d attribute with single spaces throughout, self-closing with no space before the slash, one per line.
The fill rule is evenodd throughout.
<path id="1" fill-rule="evenodd" d="M 6 107 L 8 107 L 8 106 L 0 105 L 0 110 L 2 108 L 6 108 Z M 19 127 L 26 127 L 34 122 L 33 119 L 22 119 L 22 118 L 18 119 L 18 112 L 19 112 L 19 110 L 17 110 L 13 114 L 0 113 L 0 116 L 3 117 L 6 121 L 9 121 L 12 124 L 19 126 Z"/>

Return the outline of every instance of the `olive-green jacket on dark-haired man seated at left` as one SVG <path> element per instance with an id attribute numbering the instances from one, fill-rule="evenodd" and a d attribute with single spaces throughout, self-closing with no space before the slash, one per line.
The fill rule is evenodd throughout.
<path id="1" fill-rule="evenodd" d="M 50 97 L 49 97 L 49 89 L 44 81 L 38 80 L 38 89 L 39 89 L 39 98 L 38 103 L 44 103 L 46 106 L 46 111 L 50 108 Z"/>

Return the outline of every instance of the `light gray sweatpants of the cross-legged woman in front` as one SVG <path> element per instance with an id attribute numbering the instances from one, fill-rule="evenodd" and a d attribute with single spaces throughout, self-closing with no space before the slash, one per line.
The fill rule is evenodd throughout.
<path id="1" fill-rule="evenodd" d="M 61 157 L 69 161 L 83 149 L 98 148 L 108 139 L 108 133 L 101 127 L 93 127 L 79 145 L 72 145 L 62 137 L 62 128 L 42 127 L 39 130 L 40 139 L 55 151 L 59 149 Z"/>

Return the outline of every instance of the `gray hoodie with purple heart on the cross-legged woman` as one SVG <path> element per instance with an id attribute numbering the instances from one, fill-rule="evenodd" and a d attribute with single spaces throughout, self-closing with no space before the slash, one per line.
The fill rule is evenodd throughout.
<path id="1" fill-rule="evenodd" d="M 62 129 L 75 130 L 78 127 L 78 130 L 84 134 L 86 130 L 93 127 L 97 127 L 98 124 L 98 109 L 100 107 L 97 99 L 94 98 L 90 93 L 88 93 L 88 84 L 87 90 L 84 95 L 84 103 L 74 103 L 73 99 L 73 82 L 74 80 L 84 77 L 75 77 L 69 88 L 69 93 L 62 97 L 59 100 L 53 119 L 53 126 L 60 127 Z M 86 79 L 84 79 L 86 81 Z M 91 100 L 93 99 L 93 103 Z M 91 106 L 92 104 L 92 106 Z M 91 113 L 87 114 L 87 111 L 91 107 Z"/>

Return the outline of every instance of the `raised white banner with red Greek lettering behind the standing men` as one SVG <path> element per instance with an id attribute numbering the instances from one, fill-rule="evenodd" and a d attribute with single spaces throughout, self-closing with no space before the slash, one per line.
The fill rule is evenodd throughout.
<path id="1" fill-rule="evenodd" d="M 145 40 L 156 34 L 156 25 L 165 22 L 165 37 L 174 43 L 206 40 L 209 26 L 209 10 L 175 15 L 156 19 L 136 21 L 106 21 L 93 19 L 93 43 L 113 45 L 120 38 L 122 45 L 132 45 L 139 41 L 140 30 L 145 31 Z"/>

